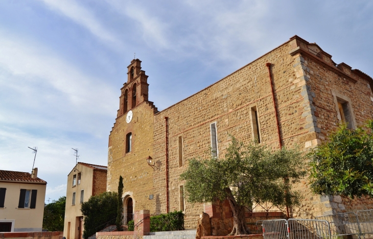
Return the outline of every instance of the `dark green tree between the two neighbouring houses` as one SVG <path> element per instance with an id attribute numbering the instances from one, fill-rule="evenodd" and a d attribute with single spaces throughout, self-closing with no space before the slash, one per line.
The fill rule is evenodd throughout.
<path id="1" fill-rule="evenodd" d="M 60 197 L 57 201 L 44 206 L 43 229 L 49 231 L 63 231 L 65 219 L 66 197 Z"/>

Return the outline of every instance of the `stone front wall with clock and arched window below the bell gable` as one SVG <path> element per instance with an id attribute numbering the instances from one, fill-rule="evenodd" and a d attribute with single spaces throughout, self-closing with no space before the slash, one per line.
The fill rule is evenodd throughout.
<path id="1" fill-rule="evenodd" d="M 154 169 L 146 161 L 146 158 L 153 155 L 154 112 L 147 102 L 137 105 L 132 112 L 130 123 L 126 122 L 126 115 L 116 119 L 109 136 L 107 190 L 118 191 L 119 176 L 122 175 L 124 213 L 126 200 L 131 197 L 133 211 L 150 209 L 150 213 L 154 214 L 157 199 L 149 200 L 149 195 L 155 194 Z M 125 140 L 129 132 L 132 132 L 132 151 L 126 153 Z M 164 175 L 159 180 L 165 181 Z"/>

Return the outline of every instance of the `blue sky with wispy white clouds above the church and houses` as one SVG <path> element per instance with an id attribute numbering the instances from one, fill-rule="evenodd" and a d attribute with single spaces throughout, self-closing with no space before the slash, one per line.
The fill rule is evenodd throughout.
<path id="1" fill-rule="evenodd" d="M 373 76 L 370 0 L 2 0 L 0 170 L 31 172 L 37 146 L 45 201 L 57 200 L 72 148 L 107 165 L 134 54 L 163 110 L 294 35 Z"/>

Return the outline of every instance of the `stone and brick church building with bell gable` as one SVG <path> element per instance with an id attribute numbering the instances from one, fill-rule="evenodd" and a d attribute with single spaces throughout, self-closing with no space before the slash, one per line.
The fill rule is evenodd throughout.
<path id="1" fill-rule="evenodd" d="M 179 176 L 188 167 L 188 160 L 206 157 L 213 139 L 217 141 L 218 156 L 223 157 L 230 135 L 244 143 L 256 138 L 278 149 L 273 98 L 281 143 L 286 147 L 299 145 L 308 150 L 327 140 L 329 132 L 345 118 L 352 122 L 352 128 L 373 118 L 372 78 L 345 63 L 335 64 L 331 57 L 316 43 L 294 36 L 160 112 L 148 101 L 148 76 L 141 70 L 141 61 L 132 60 L 108 149 L 107 190 L 116 191 L 119 176 L 123 176 L 125 217 L 130 212 L 127 202 L 131 198 L 133 212 L 148 209 L 154 215 L 182 209 L 185 227 L 195 228 L 204 205 L 182 199 L 184 182 Z M 343 115 L 338 105 L 342 105 Z M 127 123 L 129 111 L 132 119 Z M 313 195 L 307 179 L 294 188 L 304 196 L 299 207 L 290 208 L 294 218 L 355 210 L 346 204 L 362 204 L 362 199 Z M 363 201 L 365 209 L 373 208 L 369 198 Z"/>

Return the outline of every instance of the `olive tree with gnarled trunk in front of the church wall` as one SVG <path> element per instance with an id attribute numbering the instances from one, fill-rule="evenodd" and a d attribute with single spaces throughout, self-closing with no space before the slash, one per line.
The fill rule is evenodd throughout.
<path id="1" fill-rule="evenodd" d="M 245 206 L 270 202 L 275 206 L 299 203 L 292 183 L 306 174 L 307 155 L 297 148 L 271 151 L 254 142 L 244 145 L 232 137 L 224 157 L 192 158 L 181 174 L 184 195 L 191 203 L 228 199 L 234 226 L 229 235 L 250 234 Z"/>

